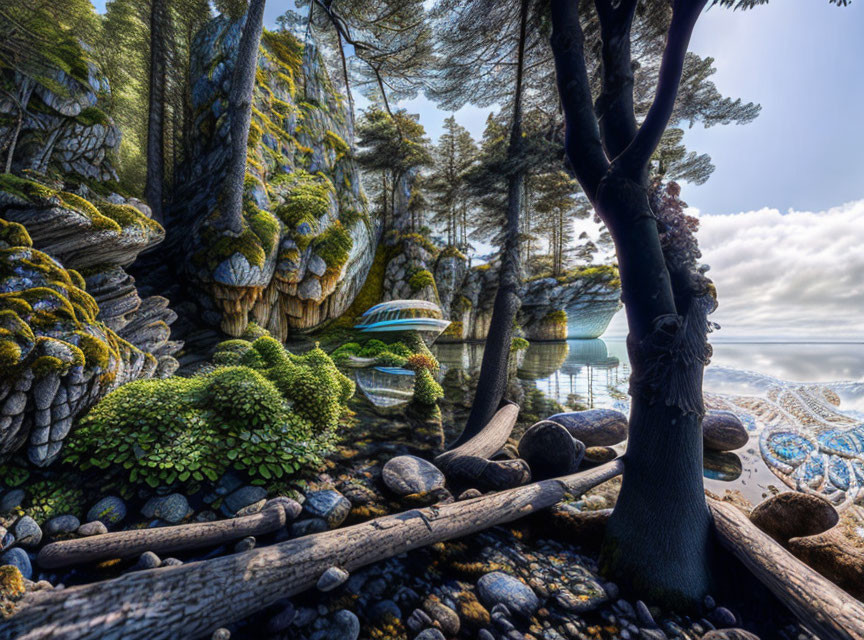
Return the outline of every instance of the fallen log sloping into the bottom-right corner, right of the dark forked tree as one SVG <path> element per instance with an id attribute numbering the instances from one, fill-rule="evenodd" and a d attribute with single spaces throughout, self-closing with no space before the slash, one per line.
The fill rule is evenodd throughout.
<path id="1" fill-rule="evenodd" d="M 864 640 L 864 604 L 781 547 L 736 507 L 708 500 L 721 545 L 822 640 Z"/>

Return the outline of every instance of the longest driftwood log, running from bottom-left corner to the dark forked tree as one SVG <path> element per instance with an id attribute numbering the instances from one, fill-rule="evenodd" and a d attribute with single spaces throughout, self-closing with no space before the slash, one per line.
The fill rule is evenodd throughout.
<path id="1" fill-rule="evenodd" d="M 0 640 L 200 638 L 315 586 L 332 566 L 353 571 L 442 540 L 511 522 L 619 475 L 620 460 L 440 507 L 426 507 L 245 553 L 34 592 Z"/>

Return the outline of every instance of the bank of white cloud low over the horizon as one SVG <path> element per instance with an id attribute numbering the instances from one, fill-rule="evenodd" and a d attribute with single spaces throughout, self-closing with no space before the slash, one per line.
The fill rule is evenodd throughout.
<path id="1" fill-rule="evenodd" d="M 699 221 L 720 301 L 712 340 L 864 340 L 864 200 Z M 607 335 L 626 333 L 619 315 Z"/>

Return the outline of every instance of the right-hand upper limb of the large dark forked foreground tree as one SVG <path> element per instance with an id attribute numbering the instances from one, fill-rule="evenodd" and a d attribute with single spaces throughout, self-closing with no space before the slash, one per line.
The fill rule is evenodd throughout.
<path id="1" fill-rule="evenodd" d="M 616 159 L 616 164 L 620 163 L 624 173 L 631 177 L 642 176 L 663 132 L 666 131 L 666 125 L 669 124 L 675 108 L 690 36 L 707 2 L 708 0 L 675 0 L 654 102 L 633 142 Z"/>

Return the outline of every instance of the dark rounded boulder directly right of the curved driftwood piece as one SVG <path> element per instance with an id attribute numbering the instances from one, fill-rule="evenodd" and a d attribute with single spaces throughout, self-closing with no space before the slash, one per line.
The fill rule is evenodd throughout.
<path id="1" fill-rule="evenodd" d="M 519 440 L 519 457 L 531 468 L 532 480 L 546 480 L 576 473 L 585 445 L 557 422 L 543 420 Z"/>

